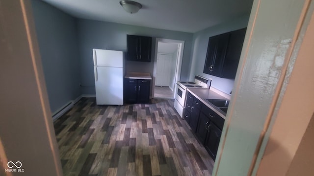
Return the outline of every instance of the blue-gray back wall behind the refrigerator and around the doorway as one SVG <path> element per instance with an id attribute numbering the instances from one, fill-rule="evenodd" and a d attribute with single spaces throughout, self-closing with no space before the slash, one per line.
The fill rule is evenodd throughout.
<path id="1" fill-rule="evenodd" d="M 149 72 L 153 75 L 155 38 L 185 41 L 181 79 L 188 79 L 192 33 L 139 27 L 112 22 L 78 19 L 79 55 L 82 94 L 95 94 L 92 49 L 127 50 L 127 34 L 153 37 L 152 62 L 125 62 L 125 71 Z"/>

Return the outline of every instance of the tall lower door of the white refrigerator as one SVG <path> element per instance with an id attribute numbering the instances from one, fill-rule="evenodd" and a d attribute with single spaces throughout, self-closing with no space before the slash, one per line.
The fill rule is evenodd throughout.
<path id="1" fill-rule="evenodd" d="M 123 105 L 123 69 L 94 66 L 97 105 Z"/>

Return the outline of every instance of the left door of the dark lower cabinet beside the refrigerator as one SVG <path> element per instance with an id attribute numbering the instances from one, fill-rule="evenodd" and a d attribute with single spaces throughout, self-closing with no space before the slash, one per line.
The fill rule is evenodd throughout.
<path id="1" fill-rule="evenodd" d="M 137 101 L 137 80 L 125 79 L 125 101 L 136 102 Z"/>

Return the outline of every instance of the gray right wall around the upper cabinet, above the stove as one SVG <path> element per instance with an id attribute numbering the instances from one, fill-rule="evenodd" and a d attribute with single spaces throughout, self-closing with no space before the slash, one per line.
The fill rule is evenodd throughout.
<path id="1" fill-rule="evenodd" d="M 249 14 L 238 18 L 231 22 L 225 22 L 213 27 L 209 27 L 202 31 L 199 31 L 193 35 L 193 50 L 191 56 L 191 67 L 190 67 L 190 74 L 189 79 L 193 80 L 195 75 L 201 75 L 206 78 L 211 78 L 211 86 L 217 88 L 225 93 L 230 93 L 234 86 L 234 79 L 225 79 L 219 78 L 216 76 L 212 76 L 209 74 L 203 73 L 205 60 L 206 60 L 206 53 L 208 47 L 209 37 L 215 36 L 218 34 L 222 34 L 225 32 L 233 31 L 236 29 L 240 29 L 247 26 L 249 21 Z M 185 49 L 185 48 L 184 48 Z"/>

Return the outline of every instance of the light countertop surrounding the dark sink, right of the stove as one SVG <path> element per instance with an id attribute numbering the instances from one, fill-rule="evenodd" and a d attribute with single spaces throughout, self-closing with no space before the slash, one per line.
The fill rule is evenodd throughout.
<path id="1" fill-rule="evenodd" d="M 226 118 L 225 112 L 222 110 L 219 110 L 215 106 L 211 105 L 206 99 L 223 99 L 223 100 L 229 100 L 230 98 L 226 98 L 224 96 L 221 96 L 220 94 L 216 93 L 215 91 L 211 89 L 202 89 L 202 88 L 187 88 L 187 91 L 190 92 L 193 96 L 195 96 L 197 99 L 199 99 L 204 105 L 209 107 L 211 110 L 216 112 L 219 116 L 221 116 L 223 119 Z"/>

